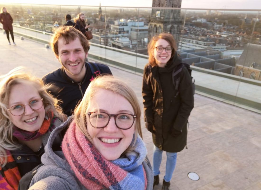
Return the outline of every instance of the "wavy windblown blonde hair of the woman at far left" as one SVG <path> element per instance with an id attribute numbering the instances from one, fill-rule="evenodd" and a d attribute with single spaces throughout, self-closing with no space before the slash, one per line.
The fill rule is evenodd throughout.
<path id="1" fill-rule="evenodd" d="M 0 165 L 7 163 L 5 149 L 15 150 L 21 145 L 13 137 L 13 123 L 8 114 L 9 97 L 12 88 L 21 83 L 32 84 L 43 98 L 43 106 L 46 111 L 54 112 L 54 116 L 64 119 L 62 108 L 58 106 L 58 100 L 46 92 L 48 86 L 44 86 L 40 78 L 31 76 L 22 71 L 23 67 L 16 67 L 9 73 L 0 76 Z"/>

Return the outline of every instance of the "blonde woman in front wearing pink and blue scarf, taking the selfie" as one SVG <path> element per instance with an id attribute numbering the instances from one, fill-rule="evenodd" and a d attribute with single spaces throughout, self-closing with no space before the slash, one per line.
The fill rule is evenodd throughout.
<path id="1" fill-rule="evenodd" d="M 74 113 L 52 132 L 29 189 L 152 189 L 139 102 L 126 83 L 96 77 Z M 62 151 L 54 152 L 67 127 Z"/>

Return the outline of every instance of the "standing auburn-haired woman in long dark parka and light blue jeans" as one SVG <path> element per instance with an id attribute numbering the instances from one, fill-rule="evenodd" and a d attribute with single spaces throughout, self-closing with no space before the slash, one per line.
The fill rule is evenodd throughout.
<path id="1" fill-rule="evenodd" d="M 155 145 L 153 186 L 159 183 L 162 151 L 167 152 L 163 190 L 169 189 L 177 152 L 182 151 L 187 144 L 188 117 L 194 107 L 192 80 L 185 67 L 182 67 L 180 73 L 179 89 L 175 90 L 172 72 L 182 59 L 174 48 L 175 40 L 171 34 L 154 36 L 148 45 L 149 63 L 143 73 L 145 122 Z"/>

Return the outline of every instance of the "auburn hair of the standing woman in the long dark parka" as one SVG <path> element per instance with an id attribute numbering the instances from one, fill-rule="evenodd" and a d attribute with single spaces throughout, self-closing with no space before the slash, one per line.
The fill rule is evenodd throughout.
<path id="1" fill-rule="evenodd" d="M 164 39 L 166 40 L 169 45 L 173 48 L 172 52 L 171 52 L 171 58 L 174 56 L 175 53 L 175 49 L 176 49 L 176 41 L 174 39 L 174 37 L 172 36 L 172 34 L 169 33 L 160 33 L 159 35 L 153 36 L 150 40 L 150 43 L 148 44 L 148 54 L 149 54 L 149 63 L 150 65 L 156 66 L 156 60 L 152 54 L 153 49 L 155 48 L 155 44 L 159 39 Z M 170 59 L 171 59 L 170 58 Z"/>

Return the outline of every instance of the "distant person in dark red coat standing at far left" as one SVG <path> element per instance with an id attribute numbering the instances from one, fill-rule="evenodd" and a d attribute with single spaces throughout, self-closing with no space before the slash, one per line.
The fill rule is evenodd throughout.
<path id="1" fill-rule="evenodd" d="M 3 25 L 3 28 L 6 33 L 6 37 L 8 39 L 9 45 L 11 45 L 10 39 L 9 39 L 9 31 L 11 34 L 11 38 L 13 40 L 13 44 L 16 45 L 15 40 L 14 40 L 14 33 L 13 33 L 13 18 L 11 15 L 8 13 L 7 9 L 5 7 L 1 8 L 1 13 L 0 13 L 0 22 Z"/>

